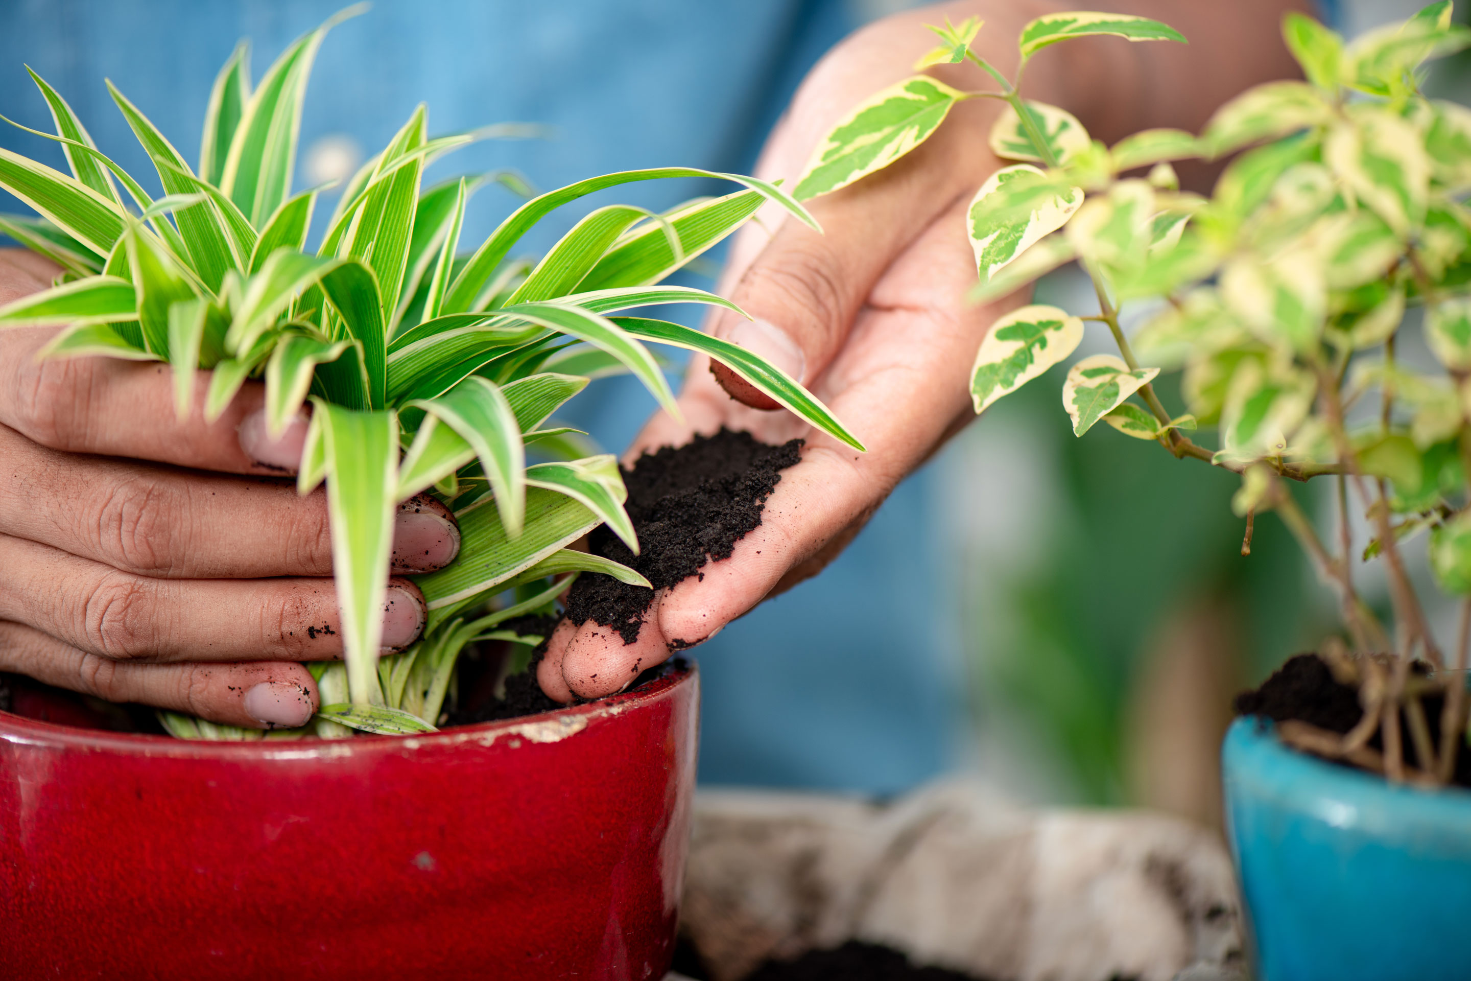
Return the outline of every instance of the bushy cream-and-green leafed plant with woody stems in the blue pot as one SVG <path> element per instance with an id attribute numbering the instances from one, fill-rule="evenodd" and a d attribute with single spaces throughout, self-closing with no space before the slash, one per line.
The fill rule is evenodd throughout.
<path id="1" fill-rule="evenodd" d="M 990 149 L 1016 163 L 969 209 L 975 299 L 1075 260 L 1097 307 L 1024 306 L 996 321 L 971 377 L 975 410 L 1068 359 L 1086 324 L 1106 329 L 1118 354 L 1066 372 L 1072 431 L 1105 422 L 1239 474 L 1243 553 L 1256 513 L 1283 518 L 1342 599 L 1347 644 L 1328 638 L 1319 653 L 1340 681 L 1359 684 L 1364 707 L 1347 735 L 1289 722 L 1283 737 L 1417 782 L 1453 772 L 1471 641 L 1471 112 L 1420 91 L 1425 62 L 1471 44 L 1450 15 L 1445 0 L 1349 44 L 1287 15 L 1283 34 L 1306 81 L 1246 91 L 1200 135 L 1149 129 L 1112 147 L 1065 110 L 1024 100 L 1027 63 L 1069 38 L 1184 43 L 1178 32 L 1112 13 L 1044 16 L 1022 29 L 1006 78 L 972 50 L 977 21 L 947 22 L 931 28 L 941 44 L 916 71 L 969 62 L 994 88 L 958 91 L 927 75 L 887 88 L 831 131 L 796 187 L 799 197 L 825 193 L 887 166 L 962 100 L 1003 103 Z M 1172 160 L 1233 154 L 1209 199 L 1180 190 Z M 1140 324 L 1133 335 L 1124 307 Z M 1417 362 L 1421 335 L 1430 353 Z M 1180 410 L 1155 390 L 1162 371 L 1183 372 Z M 1205 428 L 1218 449 L 1196 441 Z M 1337 484 L 1331 535 L 1289 484 L 1318 477 Z M 1362 556 L 1353 512 L 1367 521 Z M 1450 657 L 1406 574 L 1403 546 L 1424 531 L 1440 588 L 1464 597 Z M 1361 557 L 1386 566 L 1393 637 L 1355 585 Z M 1422 699 L 1440 693 L 1437 744 Z M 1383 752 L 1370 746 L 1375 734 Z"/>

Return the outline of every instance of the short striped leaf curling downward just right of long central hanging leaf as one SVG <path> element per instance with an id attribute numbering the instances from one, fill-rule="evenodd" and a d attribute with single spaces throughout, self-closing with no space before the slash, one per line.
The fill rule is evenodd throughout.
<path id="1" fill-rule="evenodd" d="M 438 416 L 475 449 L 496 494 L 500 521 L 512 538 L 519 537 L 525 515 L 527 456 L 516 415 L 500 388 L 471 375 L 438 399 L 407 404 Z"/>

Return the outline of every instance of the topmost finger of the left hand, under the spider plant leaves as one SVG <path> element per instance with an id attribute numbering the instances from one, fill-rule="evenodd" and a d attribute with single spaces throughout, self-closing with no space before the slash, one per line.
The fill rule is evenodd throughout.
<path id="1" fill-rule="evenodd" d="M 265 385 L 246 382 L 213 422 L 204 421 L 209 374 L 179 421 L 174 377 L 157 362 L 113 357 L 37 359 L 56 328 L 0 331 L 0 424 L 41 446 L 72 453 L 128 456 L 227 474 L 294 474 L 307 416 L 297 413 L 272 438 Z"/>

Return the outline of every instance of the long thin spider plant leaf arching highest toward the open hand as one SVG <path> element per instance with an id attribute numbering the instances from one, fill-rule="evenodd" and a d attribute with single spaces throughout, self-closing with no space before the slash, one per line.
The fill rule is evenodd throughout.
<path id="1" fill-rule="evenodd" d="M 630 184 L 634 181 L 659 181 L 678 176 L 734 181 L 736 184 L 741 184 L 753 191 L 758 191 L 766 200 L 781 204 L 788 213 L 802 221 L 805 225 L 813 229 L 818 226 L 816 221 L 813 221 L 813 218 L 808 215 L 806 209 L 802 207 L 802 204 L 799 204 L 790 194 L 783 191 L 775 184 L 750 176 L 718 174 L 715 171 L 699 171 L 696 168 L 658 168 L 650 171 L 621 171 L 618 174 L 605 174 L 603 176 L 588 178 L 555 191 L 547 191 L 546 194 L 534 197 L 518 207 L 509 218 L 506 218 L 506 221 L 500 224 L 499 228 L 496 228 L 491 237 L 475 250 L 475 254 L 469 257 L 469 262 L 465 263 L 459 277 L 453 284 L 450 284 L 450 291 L 444 299 L 441 313 L 463 313 L 466 310 L 478 309 L 477 304 L 485 293 L 485 285 L 490 282 L 496 269 L 500 266 L 502 260 L 516 241 L 519 241 L 521 237 L 531 229 L 531 226 L 562 204 L 568 204 L 580 197 L 606 190 L 609 187 L 616 187 L 619 184 Z"/>

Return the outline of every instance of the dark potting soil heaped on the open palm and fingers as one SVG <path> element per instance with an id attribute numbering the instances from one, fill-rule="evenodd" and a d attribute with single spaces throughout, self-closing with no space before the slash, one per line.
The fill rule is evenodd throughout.
<path id="1" fill-rule="evenodd" d="M 802 440 L 769 446 L 749 432 L 721 429 L 678 449 L 644 453 L 624 471 L 625 507 L 640 553 L 606 525 L 593 531 L 588 547 L 637 569 L 655 590 L 702 575 L 706 562 L 728 559 L 736 543 L 761 525 L 766 497 L 800 452 Z M 652 602 L 653 590 L 584 574 L 568 593 L 566 616 L 574 624 L 593 619 L 612 627 L 631 644 Z"/>

